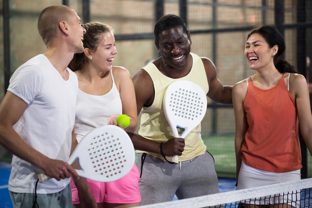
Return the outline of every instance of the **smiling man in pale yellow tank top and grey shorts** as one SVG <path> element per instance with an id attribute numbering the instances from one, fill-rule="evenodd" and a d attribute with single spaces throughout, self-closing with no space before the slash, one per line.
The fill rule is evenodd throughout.
<path id="1" fill-rule="evenodd" d="M 183 199 L 219 192 L 213 157 L 202 142 L 200 124 L 185 140 L 173 138 L 162 107 L 168 85 L 176 80 L 193 81 L 212 100 L 232 104 L 232 86 L 222 85 L 212 61 L 190 53 L 190 32 L 180 17 L 161 17 L 154 35 L 161 57 L 133 77 L 138 114 L 142 117 L 139 135 L 129 136 L 138 150 L 141 205 L 171 201 L 174 194 Z M 174 155 L 180 156 L 179 164 L 164 160 L 163 156 L 170 161 Z"/>

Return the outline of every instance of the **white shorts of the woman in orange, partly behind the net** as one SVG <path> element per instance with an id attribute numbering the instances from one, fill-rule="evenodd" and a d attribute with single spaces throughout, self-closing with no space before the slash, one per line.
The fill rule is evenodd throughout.
<path id="1" fill-rule="evenodd" d="M 299 180 L 301 180 L 300 169 L 285 173 L 268 172 L 259 170 L 254 167 L 250 167 L 242 161 L 241 169 L 238 174 L 238 183 L 236 190 Z M 241 202 L 256 205 L 268 205 L 269 203 L 272 205 L 283 203 L 299 208 L 300 190 L 297 190 L 297 192 L 294 191 L 293 193 L 289 194 L 285 193 L 285 196 L 284 193 L 280 193 L 256 199 L 248 199 Z"/>

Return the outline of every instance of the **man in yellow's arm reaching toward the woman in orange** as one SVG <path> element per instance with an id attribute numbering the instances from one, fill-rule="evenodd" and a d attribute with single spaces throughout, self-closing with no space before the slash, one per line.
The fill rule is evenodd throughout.
<path id="1" fill-rule="evenodd" d="M 217 78 L 216 66 L 210 59 L 202 57 L 202 62 L 206 70 L 209 85 L 207 96 L 217 103 L 232 104 L 233 86 L 222 85 L 221 81 Z"/>

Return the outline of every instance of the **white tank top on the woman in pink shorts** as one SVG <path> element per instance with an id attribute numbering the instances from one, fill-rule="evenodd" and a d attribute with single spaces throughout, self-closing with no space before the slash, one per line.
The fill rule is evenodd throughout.
<path id="1" fill-rule="evenodd" d="M 122 114 L 120 94 L 112 70 L 110 74 L 113 87 L 104 95 L 86 94 L 78 89 L 75 119 L 75 134 L 78 142 L 94 128 L 107 125 L 110 116 Z"/>

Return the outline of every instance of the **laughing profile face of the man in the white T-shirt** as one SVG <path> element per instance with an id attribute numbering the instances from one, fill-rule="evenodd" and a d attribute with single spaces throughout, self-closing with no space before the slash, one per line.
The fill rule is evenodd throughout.
<path id="1" fill-rule="evenodd" d="M 81 26 L 80 17 L 72 10 L 72 15 L 69 20 L 69 27 L 71 29 L 71 41 L 73 43 L 75 53 L 81 53 L 84 50 L 83 47 L 83 34 L 85 34 L 85 28 Z"/>

